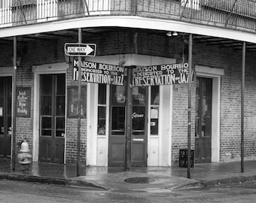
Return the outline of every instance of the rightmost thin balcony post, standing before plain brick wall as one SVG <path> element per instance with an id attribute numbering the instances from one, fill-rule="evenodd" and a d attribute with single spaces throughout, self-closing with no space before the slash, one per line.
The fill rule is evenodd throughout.
<path id="1" fill-rule="evenodd" d="M 246 44 L 242 43 L 242 85 L 241 85 L 241 173 L 244 172 L 244 101 L 245 101 L 245 50 Z"/>

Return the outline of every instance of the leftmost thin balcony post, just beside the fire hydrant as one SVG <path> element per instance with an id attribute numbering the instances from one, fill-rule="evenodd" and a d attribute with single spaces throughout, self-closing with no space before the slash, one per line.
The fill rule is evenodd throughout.
<path id="1" fill-rule="evenodd" d="M 12 126 L 12 157 L 11 168 L 15 171 L 16 154 L 16 70 L 17 70 L 17 37 L 14 37 L 14 78 L 13 78 L 13 126 Z"/>

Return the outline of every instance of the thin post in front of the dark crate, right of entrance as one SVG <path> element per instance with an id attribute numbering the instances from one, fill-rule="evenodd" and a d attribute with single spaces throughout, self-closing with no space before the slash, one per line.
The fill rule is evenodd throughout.
<path id="1" fill-rule="evenodd" d="M 191 138 L 191 83 L 192 83 L 192 34 L 188 41 L 188 123 L 187 123 L 187 178 L 190 178 L 190 138 Z"/>

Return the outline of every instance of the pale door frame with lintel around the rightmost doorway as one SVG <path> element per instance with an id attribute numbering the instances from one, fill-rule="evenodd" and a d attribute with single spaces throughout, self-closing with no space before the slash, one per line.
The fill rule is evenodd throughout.
<path id="1" fill-rule="evenodd" d="M 212 78 L 212 162 L 220 162 L 221 76 L 223 68 L 196 65 L 197 77 Z"/>

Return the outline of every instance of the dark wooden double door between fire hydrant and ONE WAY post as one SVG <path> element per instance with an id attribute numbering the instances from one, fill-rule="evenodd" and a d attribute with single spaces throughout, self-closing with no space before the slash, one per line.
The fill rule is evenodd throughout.
<path id="1" fill-rule="evenodd" d="M 65 74 L 40 76 L 40 162 L 64 162 Z"/>

